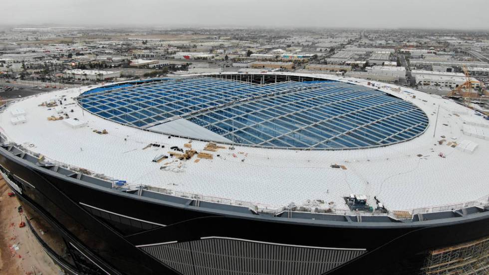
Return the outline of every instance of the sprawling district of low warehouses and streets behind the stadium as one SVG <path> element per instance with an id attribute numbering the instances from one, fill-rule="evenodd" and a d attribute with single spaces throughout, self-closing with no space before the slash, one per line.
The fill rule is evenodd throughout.
<path id="1" fill-rule="evenodd" d="M 460 98 L 487 112 L 488 56 L 484 32 L 11 28 L 1 30 L 0 95 L 189 73 L 322 72 Z"/>

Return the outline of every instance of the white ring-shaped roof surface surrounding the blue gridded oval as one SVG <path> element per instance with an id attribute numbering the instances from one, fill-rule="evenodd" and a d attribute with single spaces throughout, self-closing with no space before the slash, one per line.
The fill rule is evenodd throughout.
<path id="1" fill-rule="evenodd" d="M 338 79 L 352 87 L 367 87 L 367 80 L 295 75 Z M 328 83 L 331 84 L 322 85 Z M 391 211 L 417 209 L 421 213 L 470 206 L 476 200 L 487 203 L 489 122 L 453 100 L 373 83 L 382 92 L 408 101 L 427 114 L 425 132 L 409 141 L 361 150 L 282 150 L 234 145 L 211 152 L 203 151 L 208 142 L 193 140 L 193 149 L 211 153 L 213 159 L 195 162 L 195 156 L 182 161 L 170 157 L 168 164 L 156 163 L 152 162 L 155 156 L 168 155 L 173 146 L 184 148 L 189 139 L 168 138 L 94 115 L 76 104 L 78 88 L 12 102 L 0 113 L 0 125 L 9 141 L 42 154 L 46 160 L 126 180 L 129 186 L 153 186 L 176 196 L 198 194 L 202 200 L 234 205 L 251 202 L 266 208 L 294 202 L 297 206 L 332 208 L 336 213 L 349 211 L 343 197 L 350 194 L 365 195 L 373 206 L 375 196 Z M 63 120 L 46 119 L 59 115 L 50 107 L 39 106 L 51 99 L 62 100 L 62 110 L 81 123 L 70 125 Z M 18 108 L 25 111 L 25 123 L 13 125 L 11 110 Z M 104 129 L 107 134 L 102 133 Z M 165 147 L 148 147 L 151 143 Z"/>

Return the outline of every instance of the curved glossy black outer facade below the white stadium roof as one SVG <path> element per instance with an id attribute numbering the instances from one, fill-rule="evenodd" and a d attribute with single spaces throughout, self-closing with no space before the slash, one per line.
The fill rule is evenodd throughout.
<path id="1" fill-rule="evenodd" d="M 110 182 L 0 148 L 2 176 L 78 274 L 416 274 L 426 252 L 489 235 L 489 209 L 387 216 L 255 213 Z M 53 254 L 53 255 L 51 255 Z M 63 258 L 65 260 L 63 260 Z M 61 265 L 63 266 L 63 264 Z"/>

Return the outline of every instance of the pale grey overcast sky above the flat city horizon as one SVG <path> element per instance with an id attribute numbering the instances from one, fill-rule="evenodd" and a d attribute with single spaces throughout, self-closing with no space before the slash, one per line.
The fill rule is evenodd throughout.
<path id="1" fill-rule="evenodd" d="M 489 29 L 489 0 L 2 0 L 1 25 Z"/>

